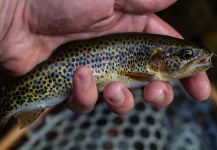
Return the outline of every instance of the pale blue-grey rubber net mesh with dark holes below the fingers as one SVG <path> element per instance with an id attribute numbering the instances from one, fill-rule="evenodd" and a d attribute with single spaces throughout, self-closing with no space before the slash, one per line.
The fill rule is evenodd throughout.
<path id="1" fill-rule="evenodd" d="M 214 150 L 217 129 L 210 101 L 196 102 L 178 82 L 175 98 L 165 109 L 145 104 L 133 90 L 135 108 L 115 115 L 103 100 L 87 115 L 63 107 L 39 120 L 13 149 L 21 150 Z M 100 98 L 102 99 L 102 98 Z"/>

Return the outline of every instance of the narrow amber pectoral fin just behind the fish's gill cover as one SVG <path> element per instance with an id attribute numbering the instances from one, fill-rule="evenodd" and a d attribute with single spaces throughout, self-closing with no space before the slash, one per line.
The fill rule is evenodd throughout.
<path id="1" fill-rule="evenodd" d="M 133 79 L 135 81 L 140 82 L 150 82 L 153 80 L 153 76 L 151 74 L 143 74 L 143 73 L 134 73 L 134 72 L 121 72 L 123 75 Z"/>

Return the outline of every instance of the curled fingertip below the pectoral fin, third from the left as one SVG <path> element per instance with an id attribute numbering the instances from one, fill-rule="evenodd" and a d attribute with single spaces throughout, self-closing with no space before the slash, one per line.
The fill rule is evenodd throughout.
<path id="1" fill-rule="evenodd" d="M 151 82 L 143 90 L 145 102 L 155 108 L 166 107 L 172 102 L 173 96 L 173 89 L 167 82 Z"/>

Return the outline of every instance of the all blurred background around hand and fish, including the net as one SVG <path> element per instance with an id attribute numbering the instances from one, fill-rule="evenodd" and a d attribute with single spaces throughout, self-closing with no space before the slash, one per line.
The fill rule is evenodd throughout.
<path id="1" fill-rule="evenodd" d="M 217 1 L 179 0 L 157 14 L 185 39 L 217 54 Z M 59 105 L 26 130 L 13 127 L 12 119 L 0 135 L 0 149 L 216 150 L 216 56 L 212 62 L 208 101 L 196 102 L 174 81 L 174 101 L 161 110 L 145 104 L 140 89 L 133 90 L 135 109 L 124 116 L 111 113 L 101 97 L 94 111 L 84 116 Z M 11 77 L 1 70 L 0 79 L 8 81 Z"/>

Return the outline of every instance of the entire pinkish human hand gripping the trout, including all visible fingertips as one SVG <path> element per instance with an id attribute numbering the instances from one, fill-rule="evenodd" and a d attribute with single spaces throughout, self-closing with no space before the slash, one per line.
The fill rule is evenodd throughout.
<path id="1" fill-rule="evenodd" d="M 5 0 L 0 1 L 0 65 L 21 76 L 47 59 L 59 45 L 117 32 L 147 32 L 182 38 L 154 12 L 176 0 Z M 210 95 L 205 72 L 180 80 L 196 100 Z M 84 114 L 97 101 L 97 89 L 88 67 L 73 75 L 73 92 L 65 105 Z M 132 93 L 120 82 L 103 92 L 111 110 L 125 114 L 134 106 Z M 156 108 L 173 100 L 169 83 L 152 82 L 143 89 L 144 101 Z"/>

